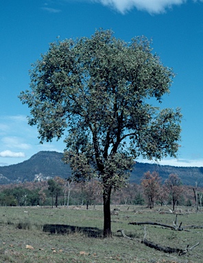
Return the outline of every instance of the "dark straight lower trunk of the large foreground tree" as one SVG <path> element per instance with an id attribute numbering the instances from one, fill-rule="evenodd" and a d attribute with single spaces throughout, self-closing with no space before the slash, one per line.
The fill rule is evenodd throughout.
<path id="1" fill-rule="evenodd" d="M 110 223 L 110 194 L 112 187 L 104 185 L 103 200 L 104 200 L 104 238 L 112 236 Z"/>

